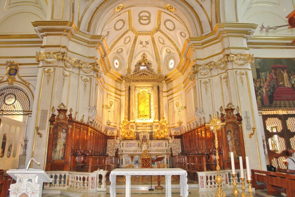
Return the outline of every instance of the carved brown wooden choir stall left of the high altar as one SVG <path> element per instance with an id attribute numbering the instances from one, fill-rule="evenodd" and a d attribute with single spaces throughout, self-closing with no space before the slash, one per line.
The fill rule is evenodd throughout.
<path id="1" fill-rule="evenodd" d="M 106 169 L 107 162 L 114 158 L 106 157 L 108 136 L 92 126 L 89 121 L 76 121 L 72 109 L 67 115 L 65 105 L 58 105 L 58 115 L 53 107 L 50 117 L 46 171 L 93 172 Z"/>

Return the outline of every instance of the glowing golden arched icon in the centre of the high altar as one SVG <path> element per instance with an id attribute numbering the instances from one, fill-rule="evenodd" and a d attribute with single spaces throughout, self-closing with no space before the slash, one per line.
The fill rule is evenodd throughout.
<path id="1" fill-rule="evenodd" d="M 137 118 L 151 118 L 151 94 L 142 90 L 137 94 Z"/>

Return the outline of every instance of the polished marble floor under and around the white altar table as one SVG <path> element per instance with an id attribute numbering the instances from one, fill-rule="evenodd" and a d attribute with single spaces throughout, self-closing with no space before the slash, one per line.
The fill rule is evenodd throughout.
<path id="1" fill-rule="evenodd" d="M 162 178 L 161 185 L 164 185 L 165 178 Z M 117 183 L 117 196 L 116 197 L 125 197 L 125 182 L 123 177 L 117 177 L 116 180 Z M 177 176 L 172 176 L 172 197 L 180 196 L 180 189 L 179 187 L 179 178 Z M 107 190 L 106 191 L 100 191 L 95 193 L 83 193 L 79 191 L 73 191 L 73 190 L 64 190 L 60 191 L 60 193 L 52 193 L 52 190 L 43 190 L 43 197 L 68 197 L 68 196 L 77 196 L 77 197 L 110 197 L 109 194 L 109 180 L 106 181 L 107 184 Z M 215 190 L 209 191 L 209 192 L 200 192 L 199 186 L 196 181 L 189 180 L 189 197 L 214 197 L 215 196 Z M 155 185 L 157 185 L 157 178 L 153 178 L 152 181 L 152 188 L 155 188 Z M 150 188 L 150 178 L 144 177 L 142 181 L 140 181 L 140 177 L 135 177 L 134 181 L 131 182 L 131 196 L 132 197 L 164 197 L 165 196 L 165 188 L 164 189 L 154 189 L 154 191 L 149 191 Z M 248 191 L 248 190 L 247 190 Z M 224 192 L 227 193 L 227 197 L 233 197 L 232 189 L 224 189 Z M 241 193 L 241 191 L 240 191 Z M 249 193 L 247 193 L 249 195 Z M 240 196 L 240 194 L 239 194 Z M 255 194 L 253 194 L 255 197 L 262 197 L 267 196 L 265 190 L 256 190 Z M 276 195 L 276 196 L 267 196 L 267 197 L 283 197 L 286 196 L 282 193 L 282 195 Z"/>

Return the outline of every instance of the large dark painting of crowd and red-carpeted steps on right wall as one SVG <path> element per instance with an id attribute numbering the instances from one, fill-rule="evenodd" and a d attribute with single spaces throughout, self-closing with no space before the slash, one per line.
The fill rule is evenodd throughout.
<path id="1" fill-rule="evenodd" d="M 255 58 L 254 64 L 252 74 L 257 107 L 294 108 L 295 59 Z"/>

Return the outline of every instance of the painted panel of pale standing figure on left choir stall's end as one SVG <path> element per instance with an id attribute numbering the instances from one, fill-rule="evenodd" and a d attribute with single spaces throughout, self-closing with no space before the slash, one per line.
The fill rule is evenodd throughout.
<path id="1" fill-rule="evenodd" d="M 65 124 L 56 125 L 54 132 L 52 160 L 63 160 L 67 136 L 67 128 Z"/>

